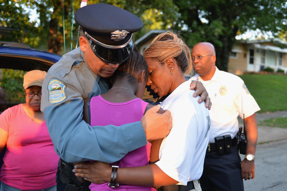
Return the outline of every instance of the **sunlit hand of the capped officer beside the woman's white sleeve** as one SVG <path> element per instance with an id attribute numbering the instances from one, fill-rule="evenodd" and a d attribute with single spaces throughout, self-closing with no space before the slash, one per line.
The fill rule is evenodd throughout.
<path id="1" fill-rule="evenodd" d="M 172 127 L 171 113 L 168 110 L 164 110 L 163 114 L 156 113 L 160 108 L 160 105 L 150 108 L 141 118 L 146 139 L 149 141 L 163 138 L 170 133 Z"/>

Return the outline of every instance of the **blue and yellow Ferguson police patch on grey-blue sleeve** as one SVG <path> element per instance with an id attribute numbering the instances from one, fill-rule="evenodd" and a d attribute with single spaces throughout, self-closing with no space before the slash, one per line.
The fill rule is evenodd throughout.
<path id="1" fill-rule="evenodd" d="M 61 80 L 51 80 L 48 84 L 49 102 L 54 104 L 64 101 L 67 98 L 66 87 L 66 84 Z"/>

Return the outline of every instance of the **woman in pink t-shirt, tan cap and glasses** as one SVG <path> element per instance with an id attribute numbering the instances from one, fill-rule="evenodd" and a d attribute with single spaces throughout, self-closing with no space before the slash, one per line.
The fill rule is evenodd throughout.
<path id="1" fill-rule="evenodd" d="M 0 172 L 1 191 L 57 190 L 59 157 L 40 111 L 46 74 L 40 70 L 27 72 L 23 83 L 26 103 L 0 115 L 0 152 L 7 146 Z"/>

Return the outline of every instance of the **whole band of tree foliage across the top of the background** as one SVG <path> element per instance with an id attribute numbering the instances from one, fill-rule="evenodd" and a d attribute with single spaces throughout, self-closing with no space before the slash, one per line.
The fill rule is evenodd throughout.
<path id="1" fill-rule="evenodd" d="M 2 0 L 0 27 L 14 30 L 10 37 L 0 36 L 0 40 L 21 42 L 32 48 L 63 54 L 65 34 L 68 52 L 77 43 L 73 11 L 80 8 L 80 2 Z M 88 4 L 101 2 L 88 0 Z M 184 34 L 190 47 L 201 41 L 212 43 L 216 49 L 216 65 L 222 70 L 227 70 L 228 55 L 236 35 L 248 29 L 259 29 L 286 38 L 286 0 L 106 0 L 102 3 L 128 10 L 143 20 L 144 28 L 135 33 L 135 39 L 151 29 L 174 29 Z M 39 22 L 29 21 L 27 7 L 36 8 Z"/>

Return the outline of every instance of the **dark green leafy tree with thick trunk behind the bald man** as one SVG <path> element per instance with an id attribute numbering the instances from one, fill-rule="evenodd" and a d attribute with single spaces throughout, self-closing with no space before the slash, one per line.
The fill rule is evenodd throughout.
<path id="1" fill-rule="evenodd" d="M 274 36 L 287 29 L 286 0 L 180 0 L 174 25 L 193 46 L 207 41 L 214 45 L 216 65 L 227 71 L 235 36 L 247 29 L 269 31 Z"/>

